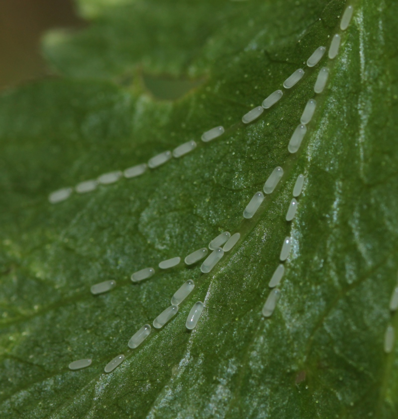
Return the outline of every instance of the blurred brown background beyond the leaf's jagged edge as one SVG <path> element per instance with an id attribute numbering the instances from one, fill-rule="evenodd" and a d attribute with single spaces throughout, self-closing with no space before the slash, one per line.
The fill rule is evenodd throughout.
<path id="1" fill-rule="evenodd" d="M 0 90 L 51 74 L 40 38 L 51 28 L 79 28 L 73 0 L 0 0 Z"/>

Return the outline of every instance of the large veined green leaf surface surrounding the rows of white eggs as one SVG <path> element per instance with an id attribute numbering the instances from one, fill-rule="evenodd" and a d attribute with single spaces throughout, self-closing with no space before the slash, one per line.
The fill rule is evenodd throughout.
<path id="1" fill-rule="evenodd" d="M 90 26 L 46 37 L 61 76 L 0 97 L 2 419 L 397 417 L 398 349 L 383 347 L 398 327 L 398 3 L 352 4 L 338 57 L 305 67 L 247 126 L 243 114 L 329 46 L 345 1 L 81 0 Z M 327 87 L 290 154 L 322 66 Z M 218 125 L 223 136 L 200 141 Z M 188 140 L 193 152 L 140 177 L 48 202 Z M 277 190 L 244 219 L 276 166 Z M 157 269 L 225 230 L 241 240 L 210 274 Z M 282 295 L 264 319 L 286 236 Z M 130 281 L 149 266 L 155 276 Z M 90 293 L 108 279 L 115 289 Z M 187 279 L 177 316 L 130 350 Z M 69 370 L 80 358 L 93 363 Z"/>

